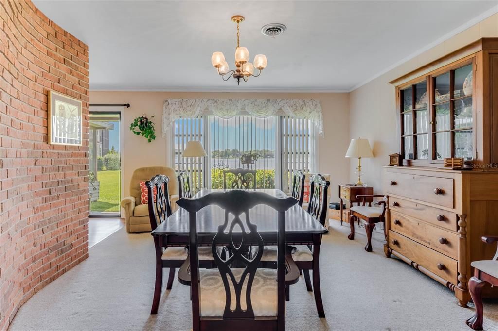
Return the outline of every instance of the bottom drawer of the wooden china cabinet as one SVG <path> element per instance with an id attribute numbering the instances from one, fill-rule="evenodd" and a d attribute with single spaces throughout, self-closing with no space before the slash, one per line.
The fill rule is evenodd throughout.
<path id="1" fill-rule="evenodd" d="M 439 277 L 453 284 L 458 284 L 457 261 L 453 258 L 397 234 L 392 230 L 389 230 L 388 238 L 389 247 L 393 250 L 420 264 Z M 438 264 L 442 264 L 443 270 L 439 270 Z"/>

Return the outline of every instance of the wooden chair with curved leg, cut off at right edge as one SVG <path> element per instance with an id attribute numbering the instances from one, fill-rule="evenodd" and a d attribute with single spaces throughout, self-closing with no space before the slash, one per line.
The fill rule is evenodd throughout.
<path id="1" fill-rule="evenodd" d="M 481 239 L 487 244 L 498 242 L 497 236 L 484 236 Z M 469 291 L 476 313 L 466 323 L 471 329 L 483 330 L 482 291 L 485 285 L 498 286 L 498 248 L 493 259 L 473 261 L 470 265 L 474 268 L 474 276 L 469 279 Z"/>

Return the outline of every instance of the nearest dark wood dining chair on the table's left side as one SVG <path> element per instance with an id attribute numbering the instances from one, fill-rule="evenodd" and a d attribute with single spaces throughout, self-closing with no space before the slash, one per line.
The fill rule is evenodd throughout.
<path id="1" fill-rule="evenodd" d="M 155 230 L 162 222 L 165 222 L 171 216 L 171 202 L 168 194 L 169 177 L 165 175 L 155 175 L 150 180 L 145 182 L 147 186 L 147 203 L 149 209 L 149 220 L 152 231 Z M 154 237 L 154 246 L 156 254 L 156 274 L 154 285 L 154 296 L 152 299 L 151 315 L 157 314 L 159 307 L 159 300 L 162 292 L 162 276 L 163 268 L 169 268 L 168 282 L 166 289 L 170 290 L 173 286 L 175 277 L 175 269 L 179 268 L 185 259 L 188 257 L 188 248 L 181 247 L 167 247 L 161 248 L 159 245 L 159 238 Z M 200 258 L 203 267 L 213 266 L 213 256 L 211 255 L 210 248 L 200 249 Z"/>

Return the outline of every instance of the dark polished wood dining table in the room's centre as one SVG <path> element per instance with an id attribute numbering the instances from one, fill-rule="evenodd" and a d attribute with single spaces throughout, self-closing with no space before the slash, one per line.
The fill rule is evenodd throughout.
<path id="1" fill-rule="evenodd" d="M 210 192 L 224 191 L 203 189 L 199 191 L 194 198 L 201 197 Z M 279 189 L 257 189 L 276 197 L 287 197 L 287 194 Z M 251 223 L 257 226 L 257 231 L 263 239 L 264 245 L 277 244 L 277 212 L 272 208 L 264 205 L 255 206 L 249 210 Z M 320 245 L 322 235 L 328 233 L 328 230 L 303 208 L 297 204 L 287 210 L 285 222 L 285 237 L 287 245 L 313 245 L 313 263 L 320 259 Z M 201 246 L 211 246 L 214 236 L 218 232 L 218 226 L 225 221 L 225 212 L 219 206 L 212 205 L 201 209 L 197 213 L 197 236 L 198 243 Z M 235 231 L 235 230 L 234 230 Z M 189 244 L 189 213 L 177 207 L 177 210 L 151 232 L 151 235 L 158 240 L 154 240 L 155 245 L 168 248 L 171 246 L 186 246 Z M 156 252 L 160 249 L 156 249 Z M 156 263 L 160 262 L 161 254 L 156 253 Z M 319 277 L 319 274 L 313 275 Z M 323 304 L 321 291 L 314 289 L 315 302 L 317 310 L 323 314 Z"/>

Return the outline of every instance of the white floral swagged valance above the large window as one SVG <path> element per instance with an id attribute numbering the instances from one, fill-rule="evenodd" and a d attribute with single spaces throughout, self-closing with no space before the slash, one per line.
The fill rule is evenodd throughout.
<path id="1" fill-rule="evenodd" d="M 242 112 L 257 117 L 287 115 L 310 120 L 323 136 L 322 105 L 302 99 L 166 99 L 162 112 L 162 136 L 180 118 L 216 115 L 230 118 Z"/>

